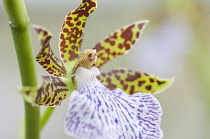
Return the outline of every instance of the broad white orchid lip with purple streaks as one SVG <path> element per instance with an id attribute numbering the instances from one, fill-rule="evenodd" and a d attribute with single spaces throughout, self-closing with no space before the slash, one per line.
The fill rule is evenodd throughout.
<path id="1" fill-rule="evenodd" d="M 76 139 L 160 139 L 162 109 L 151 94 L 128 95 L 109 90 L 97 79 L 97 70 L 79 67 L 65 117 L 65 130 Z"/>

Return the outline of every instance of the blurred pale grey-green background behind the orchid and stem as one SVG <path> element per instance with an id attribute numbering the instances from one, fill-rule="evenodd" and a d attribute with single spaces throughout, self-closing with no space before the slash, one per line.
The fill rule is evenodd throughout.
<path id="1" fill-rule="evenodd" d="M 65 15 L 79 0 L 26 0 L 31 24 L 53 33 L 51 47 L 58 56 L 58 36 Z M 210 1 L 209 0 L 98 0 L 88 19 L 82 49 L 124 25 L 148 19 L 140 41 L 128 55 L 102 67 L 127 67 L 176 80 L 156 95 L 162 104 L 164 139 L 210 138 Z M 32 32 L 34 54 L 40 48 Z M 38 64 L 37 73 L 48 75 Z M 24 106 L 16 87 L 21 85 L 8 17 L 0 1 L 0 138 L 18 138 Z M 42 132 L 43 139 L 68 139 L 63 117 L 68 100 L 58 107 Z M 44 107 L 42 108 L 44 109 Z"/>

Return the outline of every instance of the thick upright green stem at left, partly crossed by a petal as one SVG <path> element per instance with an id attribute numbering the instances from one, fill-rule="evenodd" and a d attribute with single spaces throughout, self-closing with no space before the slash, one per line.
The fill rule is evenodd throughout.
<path id="1" fill-rule="evenodd" d="M 30 37 L 29 18 L 24 0 L 3 0 L 15 44 L 22 86 L 37 86 Z M 25 139 L 39 139 L 39 107 L 25 102 Z"/>

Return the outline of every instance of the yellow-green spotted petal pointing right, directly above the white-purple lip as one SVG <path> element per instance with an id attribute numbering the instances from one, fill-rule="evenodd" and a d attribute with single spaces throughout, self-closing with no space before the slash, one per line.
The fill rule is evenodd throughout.
<path id="1" fill-rule="evenodd" d="M 136 92 L 160 93 L 168 88 L 173 81 L 122 68 L 101 73 L 98 75 L 98 79 L 110 90 L 120 88 L 128 94 Z"/>

